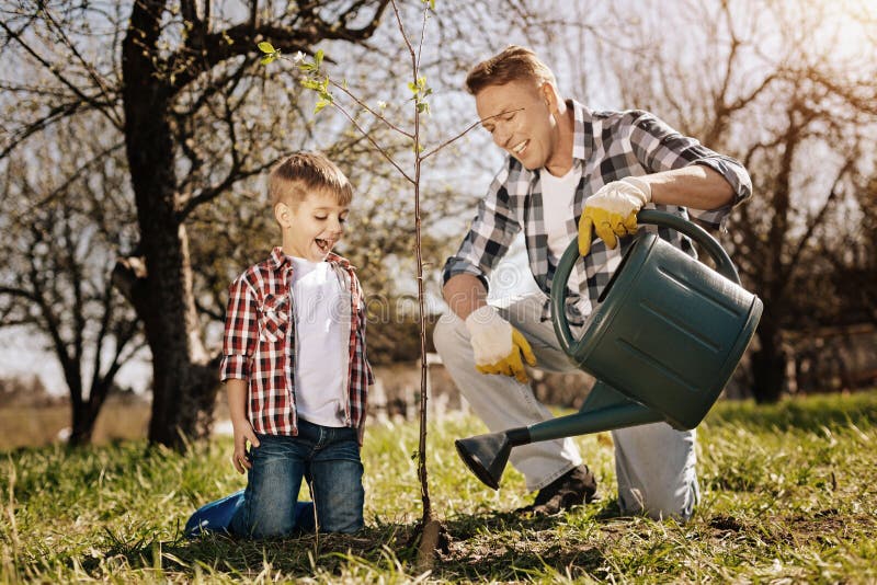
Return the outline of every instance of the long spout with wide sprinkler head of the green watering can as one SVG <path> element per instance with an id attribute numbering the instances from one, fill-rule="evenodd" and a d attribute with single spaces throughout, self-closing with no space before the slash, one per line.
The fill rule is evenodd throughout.
<path id="1" fill-rule="evenodd" d="M 469 470 L 485 485 L 497 490 L 513 447 L 663 420 L 661 413 L 634 402 L 611 386 L 597 381 L 576 414 L 500 433 L 457 439 L 455 446 Z"/>

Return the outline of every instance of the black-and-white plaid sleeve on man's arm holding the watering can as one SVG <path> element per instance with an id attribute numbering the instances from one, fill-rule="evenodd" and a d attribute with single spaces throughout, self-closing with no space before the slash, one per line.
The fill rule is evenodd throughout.
<path id="1" fill-rule="evenodd" d="M 630 130 L 633 150 L 649 172 L 658 173 L 681 169 L 690 164 L 709 167 L 728 182 L 733 190 L 733 200 L 717 209 L 690 208 L 692 217 L 718 228 L 737 204 L 752 196 L 752 180 L 743 165 L 732 159 L 719 154 L 699 141 L 684 136 L 665 123 L 646 112 L 638 112 Z"/>

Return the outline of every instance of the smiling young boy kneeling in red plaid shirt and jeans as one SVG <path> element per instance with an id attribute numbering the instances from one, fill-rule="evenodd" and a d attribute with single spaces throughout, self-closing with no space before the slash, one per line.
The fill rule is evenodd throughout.
<path id="1" fill-rule="evenodd" d="M 363 527 L 365 310 L 353 267 L 331 252 L 353 190 L 324 156 L 299 152 L 272 170 L 269 195 L 283 245 L 229 287 L 220 365 L 247 489 L 196 512 L 189 535 L 284 536 L 314 529 L 315 508 L 320 531 Z M 303 478 L 312 507 L 297 503 Z"/>

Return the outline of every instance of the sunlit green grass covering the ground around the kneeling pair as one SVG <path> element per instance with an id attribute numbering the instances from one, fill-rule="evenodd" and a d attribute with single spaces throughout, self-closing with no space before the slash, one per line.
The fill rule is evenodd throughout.
<path id="1" fill-rule="evenodd" d="M 509 469 L 493 492 L 454 452 L 454 438 L 480 432 L 463 416 L 430 431 L 432 501 L 451 537 L 430 581 L 877 580 L 877 391 L 718 404 L 698 431 L 704 500 L 685 526 L 617 515 L 607 434 L 576 439 L 600 479 L 597 504 L 517 517 L 523 478 Z M 369 428 L 362 534 L 267 542 L 181 537 L 196 506 L 243 485 L 229 439 L 185 457 L 143 443 L 5 452 L 0 582 L 413 581 L 415 443 L 413 423 Z"/>

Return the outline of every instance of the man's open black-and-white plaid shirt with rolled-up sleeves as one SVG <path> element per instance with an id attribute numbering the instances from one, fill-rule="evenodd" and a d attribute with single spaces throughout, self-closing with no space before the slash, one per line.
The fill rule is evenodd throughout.
<path id="1" fill-rule="evenodd" d="M 576 121 L 572 158 L 581 179 L 566 222 L 569 242 L 578 238 L 579 218 L 585 199 L 606 183 L 625 176 L 651 174 L 690 164 L 704 164 L 717 171 L 733 187 L 731 204 L 711 210 L 647 206 L 685 219 L 691 215 L 713 228 L 724 227 L 731 207 L 752 194 L 749 174 L 739 162 L 709 150 L 694 138 L 679 134 L 647 112 L 592 112 L 574 101 L 571 106 Z M 478 205 L 478 213 L 459 250 L 447 259 L 444 282 L 455 274 L 472 274 L 487 287 L 490 272 L 523 228 L 529 269 L 538 287 L 550 295 L 559 259 L 549 253 L 543 209 L 539 170 L 528 171 L 513 157 L 508 157 L 487 196 Z M 691 240 L 675 230 L 646 229 L 657 230 L 661 238 L 696 256 Z M 570 275 L 567 298 L 571 324 L 582 324 L 584 317 L 590 314 L 631 243 L 633 238 L 622 238 L 620 245 L 610 250 L 602 240 L 594 239 L 591 253 L 579 259 Z M 549 319 L 549 302 L 546 301 L 543 320 Z"/>

